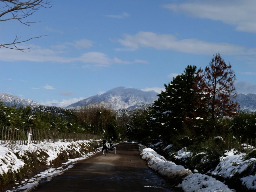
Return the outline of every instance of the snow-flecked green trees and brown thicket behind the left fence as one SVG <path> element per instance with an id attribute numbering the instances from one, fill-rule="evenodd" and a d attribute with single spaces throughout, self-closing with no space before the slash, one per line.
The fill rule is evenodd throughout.
<path id="1" fill-rule="evenodd" d="M 56 106 L 6 106 L 1 101 L 0 123 L 22 130 L 42 129 L 61 133 L 90 133 L 118 140 L 116 112 L 104 104 L 94 104 L 77 109 Z M 124 132 L 124 131 L 123 131 Z"/>

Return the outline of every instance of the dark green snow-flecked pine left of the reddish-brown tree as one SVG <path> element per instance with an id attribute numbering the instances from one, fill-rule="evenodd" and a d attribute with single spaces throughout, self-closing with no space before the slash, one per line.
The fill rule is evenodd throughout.
<path id="1" fill-rule="evenodd" d="M 187 66 L 184 73 L 168 85 L 164 84 L 165 91 L 158 94 L 159 99 L 154 102 L 151 123 L 156 135 L 162 135 L 164 140 L 192 129 L 193 117 L 200 115 L 200 110 L 195 107 L 199 96 L 194 89 L 195 74 L 196 66 Z"/>

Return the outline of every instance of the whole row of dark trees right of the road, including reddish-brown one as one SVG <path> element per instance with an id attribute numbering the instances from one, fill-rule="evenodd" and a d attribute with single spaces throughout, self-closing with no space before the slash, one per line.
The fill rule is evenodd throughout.
<path id="1" fill-rule="evenodd" d="M 188 65 L 181 75 L 164 84 L 165 90 L 153 106 L 134 114 L 127 125 L 127 137 L 142 143 L 161 140 L 177 147 L 195 146 L 217 136 L 254 138 L 256 113 L 239 112 L 234 102 L 235 80 L 230 63 L 219 53 L 205 70 Z"/>

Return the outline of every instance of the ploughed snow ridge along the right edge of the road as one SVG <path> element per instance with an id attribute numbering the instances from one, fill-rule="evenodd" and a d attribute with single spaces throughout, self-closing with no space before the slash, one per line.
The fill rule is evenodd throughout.
<path id="1" fill-rule="evenodd" d="M 173 177 L 172 173 L 186 171 L 187 176 L 178 185 L 184 191 L 234 191 L 213 177 L 199 173 L 192 174 L 189 169 L 185 169 L 181 165 L 176 165 L 174 162 L 166 160 L 151 148 L 144 148 L 141 152 L 141 158 L 146 160 L 150 168 L 163 176 L 170 177 L 170 179 Z"/>

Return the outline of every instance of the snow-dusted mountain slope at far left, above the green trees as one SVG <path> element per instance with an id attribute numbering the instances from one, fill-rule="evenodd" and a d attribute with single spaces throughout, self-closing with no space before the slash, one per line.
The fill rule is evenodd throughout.
<path id="1" fill-rule="evenodd" d="M 31 105 L 31 106 L 38 106 L 40 105 L 39 103 L 33 101 L 33 100 L 30 100 L 30 99 L 21 99 L 17 96 L 13 96 L 11 94 L 8 94 L 8 93 L 0 93 L 0 98 L 1 98 L 1 101 L 4 102 L 5 105 L 7 106 L 14 106 L 16 104 L 17 107 L 20 107 L 20 106 L 28 106 L 28 105 Z"/>

